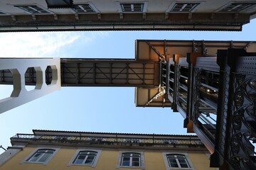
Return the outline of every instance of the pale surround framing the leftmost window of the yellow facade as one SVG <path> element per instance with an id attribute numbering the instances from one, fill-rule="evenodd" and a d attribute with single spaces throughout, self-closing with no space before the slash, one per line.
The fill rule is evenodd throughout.
<path id="1" fill-rule="evenodd" d="M 48 159 L 46 159 L 46 162 L 31 162 L 28 161 L 28 159 L 31 159 L 36 152 L 38 152 L 41 149 L 48 149 L 48 150 L 54 150 L 53 154 L 51 154 Z M 57 154 L 58 150 L 60 148 L 59 147 L 38 147 L 36 149 L 33 150 L 33 152 L 31 152 L 31 154 L 28 155 L 28 157 L 26 157 L 25 159 L 23 159 L 23 161 L 20 164 L 24 164 L 24 163 L 29 163 L 29 164 L 48 164 L 48 162 L 50 162 L 50 160 L 54 157 L 55 154 Z M 41 155 L 41 157 L 43 157 L 43 154 Z"/>

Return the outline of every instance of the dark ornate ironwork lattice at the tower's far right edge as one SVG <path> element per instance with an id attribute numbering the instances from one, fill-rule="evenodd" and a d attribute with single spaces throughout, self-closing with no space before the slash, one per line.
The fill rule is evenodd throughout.
<path id="1" fill-rule="evenodd" d="M 255 75 L 232 74 L 233 105 L 229 149 L 230 164 L 233 169 L 256 169 L 255 147 Z M 252 141 L 252 142 L 250 142 Z"/>

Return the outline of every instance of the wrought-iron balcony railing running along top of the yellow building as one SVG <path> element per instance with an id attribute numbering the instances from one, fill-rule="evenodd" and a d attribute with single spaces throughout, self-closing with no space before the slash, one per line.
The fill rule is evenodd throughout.
<path id="1" fill-rule="evenodd" d="M 120 145 L 129 143 L 134 145 L 151 145 L 151 146 L 164 146 L 164 147 L 173 147 L 174 145 L 198 145 L 198 147 L 203 147 L 203 143 L 198 138 L 195 139 L 192 136 L 187 137 L 187 139 L 169 139 L 168 137 L 164 138 L 161 136 L 159 139 L 156 136 L 143 137 L 143 138 L 129 138 L 129 137 L 119 137 L 119 135 L 114 135 L 115 137 L 90 137 L 84 135 L 33 135 L 33 134 L 17 134 L 14 137 L 11 137 L 12 142 L 36 142 L 36 141 L 51 141 L 51 142 L 70 142 L 73 144 L 75 142 L 85 144 L 87 142 L 94 144 L 108 144 L 109 142 L 117 142 Z"/>

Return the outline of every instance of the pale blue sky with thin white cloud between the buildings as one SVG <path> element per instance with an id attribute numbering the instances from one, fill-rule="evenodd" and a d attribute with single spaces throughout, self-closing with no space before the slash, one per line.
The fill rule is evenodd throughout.
<path id="1" fill-rule="evenodd" d="M 0 57 L 134 58 L 134 40 L 256 40 L 256 19 L 242 32 L 95 31 L 0 33 Z M 256 49 L 255 49 L 256 51 Z M 0 86 L 0 99 L 11 94 Z M 134 88 L 62 87 L 0 114 L 0 145 L 31 130 L 186 134 L 171 108 L 136 108 Z M 3 150 L 0 149 L 0 153 Z"/>

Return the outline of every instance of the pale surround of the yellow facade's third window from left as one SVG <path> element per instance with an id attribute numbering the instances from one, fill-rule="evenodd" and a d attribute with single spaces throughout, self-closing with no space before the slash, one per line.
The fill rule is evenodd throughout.
<path id="1" fill-rule="evenodd" d="M 123 154 L 140 154 L 139 166 L 132 166 L 132 157 L 130 157 L 130 162 L 129 162 L 130 165 L 129 166 L 122 166 L 122 159 L 123 159 L 122 155 Z M 120 168 L 145 169 L 144 152 L 137 152 L 137 151 L 132 151 L 132 150 L 120 151 L 116 168 L 117 169 L 120 169 Z"/>

